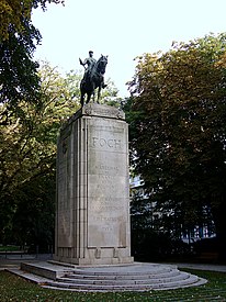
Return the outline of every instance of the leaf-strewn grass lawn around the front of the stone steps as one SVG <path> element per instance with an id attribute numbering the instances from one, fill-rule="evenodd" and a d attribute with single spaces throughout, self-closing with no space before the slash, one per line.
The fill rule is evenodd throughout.
<path id="1" fill-rule="evenodd" d="M 226 301 L 226 273 L 183 269 L 208 280 L 208 283 L 171 291 L 92 293 L 42 289 L 24 279 L 0 271 L 0 302 L 69 301 Z"/>

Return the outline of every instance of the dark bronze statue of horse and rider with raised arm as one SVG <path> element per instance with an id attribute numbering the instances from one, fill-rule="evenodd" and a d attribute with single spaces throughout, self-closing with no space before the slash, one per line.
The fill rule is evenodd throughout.
<path id="1" fill-rule="evenodd" d="M 98 88 L 98 99 L 97 102 L 99 103 L 100 96 L 101 96 L 101 89 L 105 88 L 106 85 L 104 83 L 104 74 L 105 74 L 105 68 L 108 64 L 108 56 L 101 55 L 99 60 L 97 61 L 93 58 L 93 52 L 89 52 L 89 57 L 82 61 L 79 58 L 80 64 L 84 67 L 84 75 L 83 78 L 80 82 L 80 103 L 81 107 L 84 104 L 84 96 L 87 94 L 87 100 L 86 103 L 88 104 L 91 96 L 93 96 L 93 101 L 94 101 L 94 92 L 95 89 Z"/>

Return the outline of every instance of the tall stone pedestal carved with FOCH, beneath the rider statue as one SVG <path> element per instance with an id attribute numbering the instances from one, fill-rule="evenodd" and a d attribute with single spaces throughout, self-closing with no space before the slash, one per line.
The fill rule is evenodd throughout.
<path id="1" fill-rule="evenodd" d="M 61 128 L 54 259 L 133 262 L 127 124 L 115 108 L 88 104 Z"/>

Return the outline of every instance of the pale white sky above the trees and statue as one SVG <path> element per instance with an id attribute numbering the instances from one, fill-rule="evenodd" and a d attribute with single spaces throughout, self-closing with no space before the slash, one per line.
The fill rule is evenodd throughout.
<path id="1" fill-rule="evenodd" d="M 127 97 L 135 75 L 135 57 L 167 52 L 173 41 L 189 42 L 226 32 L 226 0 L 65 0 L 33 11 L 43 38 L 34 55 L 59 71 L 83 70 L 89 51 L 109 55 L 105 79 Z"/>

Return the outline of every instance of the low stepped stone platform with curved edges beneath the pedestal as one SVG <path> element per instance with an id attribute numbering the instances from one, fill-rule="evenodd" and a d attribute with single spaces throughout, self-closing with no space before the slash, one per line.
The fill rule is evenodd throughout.
<path id="1" fill-rule="evenodd" d="M 111 266 L 74 266 L 47 262 L 24 262 L 21 269 L 9 269 L 43 288 L 70 291 L 116 292 L 171 290 L 196 287 L 205 279 L 178 270 L 173 265 L 142 264 Z"/>

